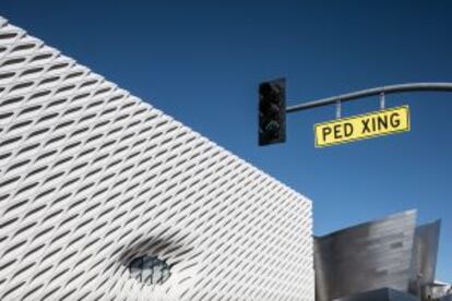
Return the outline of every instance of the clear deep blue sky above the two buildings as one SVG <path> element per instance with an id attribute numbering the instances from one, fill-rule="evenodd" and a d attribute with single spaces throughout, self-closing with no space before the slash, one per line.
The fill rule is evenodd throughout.
<path id="1" fill-rule="evenodd" d="M 246 2 L 246 3 L 245 3 Z M 437 278 L 452 281 L 452 93 L 386 97 L 412 130 L 313 147 L 334 107 L 288 115 L 287 143 L 258 147 L 257 88 L 288 104 L 452 82 L 451 1 L 0 1 L 0 15 L 313 201 L 314 232 L 409 208 L 442 219 Z M 377 97 L 343 115 L 378 109 Z"/>

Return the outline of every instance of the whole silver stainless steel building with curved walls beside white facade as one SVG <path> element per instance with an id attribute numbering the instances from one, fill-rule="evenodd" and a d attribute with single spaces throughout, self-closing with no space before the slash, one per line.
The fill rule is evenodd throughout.
<path id="1" fill-rule="evenodd" d="M 439 226 L 416 228 L 416 212 L 408 210 L 316 238 L 317 300 L 382 288 L 426 297 L 435 280 Z"/>

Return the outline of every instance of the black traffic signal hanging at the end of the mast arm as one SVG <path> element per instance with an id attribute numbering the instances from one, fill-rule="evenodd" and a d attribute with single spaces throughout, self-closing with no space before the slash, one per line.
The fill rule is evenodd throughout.
<path id="1" fill-rule="evenodd" d="M 259 145 L 286 141 L 286 81 L 259 85 Z"/>

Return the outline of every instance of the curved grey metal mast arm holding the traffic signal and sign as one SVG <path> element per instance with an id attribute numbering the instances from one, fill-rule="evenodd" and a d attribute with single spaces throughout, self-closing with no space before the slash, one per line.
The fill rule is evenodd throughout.
<path id="1" fill-rule="evenodd" d="M 350 100 L 356 100 L 358 98 L 376 96 L 381 94 L 393 94 L 402 92 L 416 92 L 416 91 L 442 91 L 442 92 L 452 92 L 452 83 L 413 83 L 413 84 L 400 84 L 391 86 L 382 86 L 376 88 L 369 88 L 353 93 L 347 93 L 343 95 L 337 95 L 333 97 L 322 98 L 318 100 L 312 100 L 286 108 L 286 112 L 296 112 L 307 109 L 312 109 L 317 107 L 323 107 L 329 105 L 334 105 L 337 103 L 345 103 Z"/>

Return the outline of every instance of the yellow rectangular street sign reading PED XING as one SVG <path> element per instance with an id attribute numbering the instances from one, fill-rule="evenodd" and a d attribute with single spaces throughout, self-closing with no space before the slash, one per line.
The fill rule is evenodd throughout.
<path id="1" fill-rule="evenodd" d="M 409 131 L 409 108 L 402 106 L 317 123 L 316 147 L 406 131 Z"/>

